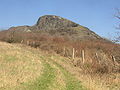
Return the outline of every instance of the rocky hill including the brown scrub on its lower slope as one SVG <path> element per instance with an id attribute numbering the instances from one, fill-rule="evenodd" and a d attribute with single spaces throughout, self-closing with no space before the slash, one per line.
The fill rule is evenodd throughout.
<path id="1" fill-rule="evenodd" d="M 85 51 L 84 62 L 92 65 L 87 72 L 120 72 L 119 44 L 105 40 L 88 28 L 59 16 L 45 15 L 34 26 L 11 27 L 1 31 L 0 40 L 26 44 L 73 59 L 81 58 L 82 51 Z M 75 66 L 79 67 L 81 63 Z"/>

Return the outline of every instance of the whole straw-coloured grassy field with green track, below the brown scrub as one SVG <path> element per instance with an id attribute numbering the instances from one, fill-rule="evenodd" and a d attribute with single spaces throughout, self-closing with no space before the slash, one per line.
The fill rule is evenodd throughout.
<path id="1" fill-rule="evenodd" d="M 0 42 L 0 90 L 120 89 L 119 73 L 90 76 L 72 62 L 48 51 Z"/>

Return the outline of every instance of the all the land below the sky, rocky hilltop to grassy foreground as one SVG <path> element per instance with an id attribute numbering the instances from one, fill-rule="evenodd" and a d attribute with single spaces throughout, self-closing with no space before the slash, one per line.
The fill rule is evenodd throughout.
<path id="1" fill-rule="evenodd" d="M 120 89 L 120 44 L 70 20 L 43 16 L 0 41 L 0 90 Z"/>

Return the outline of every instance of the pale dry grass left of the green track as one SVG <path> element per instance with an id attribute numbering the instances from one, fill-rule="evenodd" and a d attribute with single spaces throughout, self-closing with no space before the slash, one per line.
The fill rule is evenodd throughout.
<path id="1" fill-rule="evenodd" d="M 30 48 L 28 48 L 31 50 Z M 19 45 L 0 42 L 0 88 L 11 88 L 40 76 L 39 57 Z"/>

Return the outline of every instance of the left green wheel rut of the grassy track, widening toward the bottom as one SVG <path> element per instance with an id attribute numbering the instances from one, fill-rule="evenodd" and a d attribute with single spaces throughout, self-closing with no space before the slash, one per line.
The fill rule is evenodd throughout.
<path id="1" fill-rule="evenodd" d="M 24 84 L 25 88 L 22 90 L 50 90 L 49 86 L 53 84 L 55 77 L 55 69 L 44 62 L 43 74 L 35 81 Z"/>

